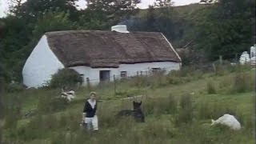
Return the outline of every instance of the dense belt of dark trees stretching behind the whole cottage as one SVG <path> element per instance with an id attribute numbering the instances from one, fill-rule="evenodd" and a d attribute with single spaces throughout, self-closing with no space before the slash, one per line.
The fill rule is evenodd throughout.
<path id="1" fill-rule="evenodd" d="M 140 0 L 12 0 L 6 18 L 0 18 L 0 77 L 22 81 L 22 66 L 42 34 L 54 30 L 110 30 L 126 24 L 129 30 L 158 31 L 174 47 L 193 41 L 207 58 L 241 53 L 254 44 L 254 1 L 219 0 L 194 10 L 176 8 L 170 0 L 156 0 L 147 10 L 138 10 Z M 206 1 L 206 0 L 204 0 Z M 207 2 L 207 1 L 206 1 Z"/>

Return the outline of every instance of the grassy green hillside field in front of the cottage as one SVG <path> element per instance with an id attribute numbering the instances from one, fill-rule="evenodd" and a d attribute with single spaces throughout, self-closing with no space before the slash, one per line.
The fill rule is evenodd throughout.
<path id="1" fill-rule="evenodd" d="M 241 71 L 242 70 L 242 71 Z M 79 127 L 83 102 L 90 90 L 76 90 L 78 98 L 66 105 L 60 90 L 25 90 L 6 94 L 6 103 L 20 112 L 6 116 L 3 139 L 7 143 L 254 143 L 254 70 L 220 69 L 216 73 L 182 70 L 94 87 L 98 103 L 100 130 L 88 134 Z M 118 110 L 131 109 L 127 94 L 146 94 L 142 98 L 145 123 L 114 119 Z M 19 101 L 20 100 L 20 101 Z M 10 106 L 11 107 L 11 106 Z M 36 114 L 18 116 L 28 111 Z M 210 126 L 210 119 L 234 114 L 242 130 Z M 14 121 L 17 118 L 18 121 Z"/>

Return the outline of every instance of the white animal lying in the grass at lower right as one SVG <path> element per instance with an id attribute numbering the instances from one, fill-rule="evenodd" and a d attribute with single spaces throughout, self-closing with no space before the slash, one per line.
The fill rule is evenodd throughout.
<path id="1" fill-rule="evenodd" d="M 230 129 L 232 130 L 241 129 L 241 125 L 238 122 L 238 120 L 234 118 L 233 115 L 230 115 L 230 114 L 224 114 L 222 117 L 218 118 L 216 121 L 212 119 L 211 122 L 212 122 L 211 125 L 221 124 L 221 125 L 229 126 Z"/>

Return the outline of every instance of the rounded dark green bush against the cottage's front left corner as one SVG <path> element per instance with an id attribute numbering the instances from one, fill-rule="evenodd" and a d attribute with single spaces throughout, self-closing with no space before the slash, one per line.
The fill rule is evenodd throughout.
<path id="1" fill-rule="evenodd" d="M 72 69 L 62 69 L 58 70 L 56 74 L 54 74 L 50 80 L 50 87 L 62 87 L 62 86 L 77 86 L 78 83 L 82 84 L 83 79 Z"/>

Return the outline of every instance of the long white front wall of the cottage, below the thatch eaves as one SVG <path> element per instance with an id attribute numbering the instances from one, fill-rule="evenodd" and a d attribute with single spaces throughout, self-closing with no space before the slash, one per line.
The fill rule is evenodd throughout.
<path id="1" fill-rule="evenodd" d="M 118 68 L 90 68 L 89 66 L 74 66 L 70 69 L 76 70 L 79 74 L 83 74 L 84 81 L 90 78 L 90 83 L 98 84 L 99 73 L 101 70 L 110 70 L 110 81 L 113 81 L 113 75 L 120 77 L 121 71 L 126 71 L 127 76 L 135 76 L 137 71 L 149 71 L 152 68 L 166 69 L 167 72 L 171 70 L 180 70 L 180 62 L 146 62 L 136 64 L 121 64 Z"/>

